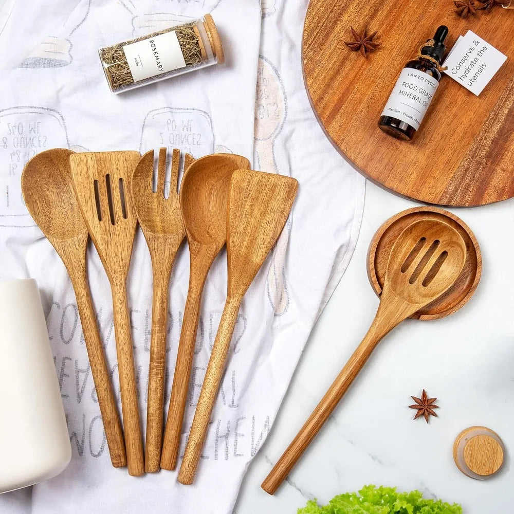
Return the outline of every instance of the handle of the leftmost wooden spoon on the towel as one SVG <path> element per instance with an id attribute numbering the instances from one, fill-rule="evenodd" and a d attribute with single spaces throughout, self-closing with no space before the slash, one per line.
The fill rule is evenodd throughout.
<path id="1" fill-rule="evenodd" d="M 87 285 L 85 268 L 82 268 L 80 273 L 74 273 L 72 271 L 70 277 L 77 299 L 82 332 L 84 333 L 87 355 L 91 366 L 91 375 L 93 375 L 93 381 L 95 382 L 98 405 L 100 407 L 100 413 L 102 414 L 107 446 L 109 448 L 109 454 L 111 454 L 111 462 L 115 468 L 120 468 L 127 464 L 123 430 L 121 428 L 116 398 L 113 393 L 111 377 L 105 361 L 102 342 L 98 334 L 98 324 L 93 303 L 91 302 L 89 286 Z"/>

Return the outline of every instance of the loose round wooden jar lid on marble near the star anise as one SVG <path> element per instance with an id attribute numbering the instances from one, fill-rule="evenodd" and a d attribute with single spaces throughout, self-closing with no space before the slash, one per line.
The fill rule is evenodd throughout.
<path id="1" fill-rule="evenodd" d="M 465 475 L 485 480 L 503 466 L 505 448 L 496 432 L 486 427 L 470 427 L 455 439 L 453 460 Z"/>

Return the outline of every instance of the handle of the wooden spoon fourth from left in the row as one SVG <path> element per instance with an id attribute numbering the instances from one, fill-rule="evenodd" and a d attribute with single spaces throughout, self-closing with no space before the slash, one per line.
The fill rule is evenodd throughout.
<path id="1" fill-rule="evenodd" d="M 184 309 L 182 331 L 180 332 L 180 342 L 178 344 L 175 374 L 173 375 L 170 408 L 162 443 L 161 467 L 163 469 L 175 469 L 177 464 L 182 422 L 186 410 L 189 379 L 193 365 L 202 288 L 203 282 L 195 285 L 194 278 L 190 278 L 188 298 Z"/>

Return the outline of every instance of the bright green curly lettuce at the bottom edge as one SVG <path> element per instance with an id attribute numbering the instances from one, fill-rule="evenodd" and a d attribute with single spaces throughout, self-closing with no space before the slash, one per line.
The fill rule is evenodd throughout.
<path id="1" fill-rule="evenodd" d="M 311 500 L 298 514 L 462 514 L 462 507 L 428 500 L 420 491 L 396 492 L 395 487 L 367 485 L 358 493 L 339 494 L 325 506 Z"/>

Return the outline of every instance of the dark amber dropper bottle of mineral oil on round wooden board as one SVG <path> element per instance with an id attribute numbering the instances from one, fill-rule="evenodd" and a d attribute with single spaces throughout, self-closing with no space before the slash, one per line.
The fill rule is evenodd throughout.
<path id="1" fill-rule="evenodd" d="M 412 139 L 439 86 L 441 74 L 436 63 L 440 65 L 443 60 L 447 35 L 448 27 L 441 25 L 434 34 L 434 44 L 421 48 L 421 55 L 402 69 L 380 116 L 380 130 L 397 139 Z"/>

